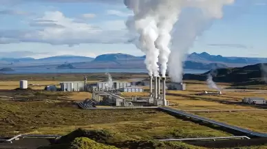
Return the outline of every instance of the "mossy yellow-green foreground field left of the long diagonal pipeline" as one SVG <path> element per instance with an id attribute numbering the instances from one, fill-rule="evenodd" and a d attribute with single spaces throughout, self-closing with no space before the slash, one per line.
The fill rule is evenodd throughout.
<path id="1" fill-rule="evenodd" d="M 76 128 L 107 129 L 125 139 L 228 136 L 155 110 L 80 110 L 72 102 L 0 102 L 1 135 L 65 135 Z"/>

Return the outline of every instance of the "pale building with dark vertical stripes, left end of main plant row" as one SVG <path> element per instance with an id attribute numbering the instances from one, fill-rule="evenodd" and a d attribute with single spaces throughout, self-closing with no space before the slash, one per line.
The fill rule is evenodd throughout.
<path id="1" fill-rule="evenodd" d="M 61 82 L 61 91 L 85 91 L 85 82 Z"/>

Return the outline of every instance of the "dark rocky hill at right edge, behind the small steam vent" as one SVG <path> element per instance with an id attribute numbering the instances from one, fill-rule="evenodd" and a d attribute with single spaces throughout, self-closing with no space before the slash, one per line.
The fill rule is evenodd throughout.
<path id="1" fill-rule="evenodd" d="M 264 82 L 267 71 L 265 69 L 267 64 L 248 65 L 246 67 L 233 67 L 216 69 L 213 80 L 215 82 L 232 82 L 235 85 L 248 85 L 248 84 L 265 84 Z M 211 73 L 207 71 L 202 74 L 184 74 L 184 80 L 206 80 L 206 75 Z"/>

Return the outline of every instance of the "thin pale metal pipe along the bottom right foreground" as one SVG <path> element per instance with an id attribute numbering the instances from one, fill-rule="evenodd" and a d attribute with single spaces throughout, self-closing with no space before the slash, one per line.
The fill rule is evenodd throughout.
<path id="1" fill-rule="evenodd" d="M 158 141 L 190 141 L 190 140 L 204 140 L 204 139 L 250 139 L 250 137 L 246 136 L 234 136 L 234 137 L 202 137 L 202 138 L 184 138 L 184 139 L 158 139 Z"/>

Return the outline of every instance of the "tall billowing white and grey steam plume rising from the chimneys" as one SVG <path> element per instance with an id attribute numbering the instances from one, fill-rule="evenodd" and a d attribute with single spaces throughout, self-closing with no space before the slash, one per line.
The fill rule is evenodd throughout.
<path id="1" fill-rule="evenodd" d="M 213 19 L 221 19 L 224 5 L 234 0 L 125 0 L 133 16 L 127 27 L 138 34 L 136 47 L 146 54 L 149 76 L 164 77 L 169 65 L 173 82 L 182 81 L 182 62 L 195 38 Z M 170 44 L 171 43 L 171 44 Z M 171 56 L 169 56 L 171 53 Z M 169 60 L 170 58 L 170 60 Z"/>

